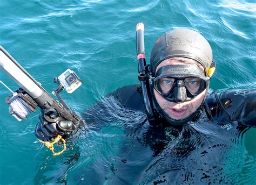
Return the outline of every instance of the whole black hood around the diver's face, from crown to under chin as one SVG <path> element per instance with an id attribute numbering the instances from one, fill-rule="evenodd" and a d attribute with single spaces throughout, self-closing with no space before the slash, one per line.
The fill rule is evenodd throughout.
<path id="1" fill-rule="evenodd" d="M 183 57 L 196 60 L 204 67 L 205 76 L 208 74 L 212 64 L 212 49 L 207 40 L 198 32 L 189 29 L 177 29 L 166 32 L 154 44 L 150 56 L 150 72 L 155 76 L 157 66 L 165 59 Z M 207 92 L 208 86 L 206 87 Z M 196 116 L 204 101 L 190 116 L 175 120 L 160 108 L 154 96 L 153 86 L 150 88 L 152 94 L 153 108 L 156 116 L 164 118 L 172 125 L 182 126 Z M 207 93 L 206 93 L 207 94 Z M 205 100 L 206 96 L 204 97 Z"/>

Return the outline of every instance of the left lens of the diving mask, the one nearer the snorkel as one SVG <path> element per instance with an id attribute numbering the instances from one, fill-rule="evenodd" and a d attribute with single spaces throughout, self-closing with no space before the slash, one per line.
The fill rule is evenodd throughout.
<path id="1" fill-rule="evenodd" d="M 155 82 L 155 87 L 161 94 L 167 94 L 172 89 L 173 84 L 174 84 L 174 79 L 170 77 L 165 77 L 165 78 L 158 79 Z"/>

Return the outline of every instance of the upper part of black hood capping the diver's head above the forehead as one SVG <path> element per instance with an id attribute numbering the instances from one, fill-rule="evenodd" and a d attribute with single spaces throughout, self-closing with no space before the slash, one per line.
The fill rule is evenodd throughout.
<path id="1" fill-rule="evenodd" d="M 176 29 L 163 34 L 154 44 L 150 56 L 150 72 L 155 74 L 159 63 L 174 57 L 190 58 L 203 65 L 206 75 L 212 63 L 212 49 L 198 32 Z"/>

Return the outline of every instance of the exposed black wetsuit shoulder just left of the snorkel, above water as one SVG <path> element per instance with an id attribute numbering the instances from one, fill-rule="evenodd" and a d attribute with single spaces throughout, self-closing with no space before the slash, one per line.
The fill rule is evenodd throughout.
<path id="1" fill-rule="evenodd" d="M 114 96 L 126 108 L 136 109 L 145 112 L 143 95 L 139 84 L 124 86 L 113 91 L 109 95 Z"/>

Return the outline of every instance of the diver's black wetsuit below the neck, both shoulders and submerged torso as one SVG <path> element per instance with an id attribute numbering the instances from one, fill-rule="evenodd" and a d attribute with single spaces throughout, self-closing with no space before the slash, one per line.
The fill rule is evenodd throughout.
<path id="1" fill-rule="evenodd" d="M 232 156 L 241 155 L 242 135 L 256 125 L 256 90 L 208 94 L 197 120 L 172 127 L 147 122 L 140 87 L 132 85 L 107 95 L 84 118 L 91 130 L 113 122 L 125 127 L 110 173 L 99 174 L 102 161 L 80 173 L 88 184 L 232 184 L 242 162 Z"/>

